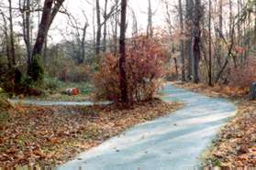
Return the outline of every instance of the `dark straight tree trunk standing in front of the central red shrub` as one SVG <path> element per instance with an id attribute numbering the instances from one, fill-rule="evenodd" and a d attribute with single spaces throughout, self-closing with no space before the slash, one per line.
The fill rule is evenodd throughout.
<path id="1" fill-rule="evenodd" d="M 121 1 L 121 25 L 120 25 L 120 45 L 119 45 L 119 70 L 120 70 L 120 90 L 121 101 L 128 102 L 128 80 L 126 75 L 126 29 L 127 29 L 127 0 Z"/>

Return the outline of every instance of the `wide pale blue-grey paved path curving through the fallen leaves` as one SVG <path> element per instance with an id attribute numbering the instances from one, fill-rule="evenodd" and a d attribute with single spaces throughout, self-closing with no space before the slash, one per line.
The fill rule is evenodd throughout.
<path id="1" fill-rule="evenodd" d="M 200 165 L 199 156 L 236 107 L 172 85 L 164 101 L 183 101 L 183 109 L 152 122 L 139 124 L 121 135 L 78 155 L 59 170 L 178 170 Z"/>

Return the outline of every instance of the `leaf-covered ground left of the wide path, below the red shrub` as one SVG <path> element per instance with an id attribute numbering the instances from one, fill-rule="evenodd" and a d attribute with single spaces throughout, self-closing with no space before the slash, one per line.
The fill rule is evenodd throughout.
<path id="1" fill-rule="evenodd" d="M 106 106 L 15 106 L 0 127 L 0 167 L 59 165 L 128 128 L 183 106 L 160 100 Z"/>

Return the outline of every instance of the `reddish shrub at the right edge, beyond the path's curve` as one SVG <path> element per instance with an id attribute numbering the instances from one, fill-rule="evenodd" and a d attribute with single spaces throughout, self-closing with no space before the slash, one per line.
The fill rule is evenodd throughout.
<path id="1" fill-rule="evenodd" d="M 231 69 L 229 75 L 230 85 L 236 88 L 249 89 L 256 80 L 256 58 L 249 58 L 243 68 Z"/>

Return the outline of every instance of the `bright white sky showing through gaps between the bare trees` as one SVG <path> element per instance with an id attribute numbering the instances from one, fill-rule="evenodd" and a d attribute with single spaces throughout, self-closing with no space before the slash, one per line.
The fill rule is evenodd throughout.
<path id="1" fill-rule="evenodd" d="M 43 2 L 43 0 L 40 0 Z M 115 0 L 108 0 L 109 5 L 113 4 Z M 164 28 L 165 25 L 165 16 L 166 16 L 166 8 L 165 5 L 162 3 L 163 0 L 151 0 L 152 4 L 152 11 L 156 12 L 153 16 L 153 27 L 161 27 Z M 172 10 L 173 15 L 173 24 L 177 23 L 177 0 L 166 0 L 170 5 L 170 10 Z M 13 6 L 18 8 L 18 2 L 19 0 L 12 0 Z M 184 0 L 183 0 L 184 2 Z M 207 2 L 207 0 L 204 0 L 203 2 Z M 215 3 L 217 1 L 213 1 Z M 225 1 L 226 2 L 226 1 Z M 237 0 L 233 0 L 234 4 L 237 2 Z M 7 4 L 7 0 L 0 0 L 0 4 Z M 69 13 L 72 14 L 76 18 L 76 20 L 81 23 L 81 27 L 84 25 L 84 17 L 83 17 L 83 11 L 88 17 L 89 27 L 87 30 L 87 36 L 86 39 L 92 39 L 93 37 L 93 8 L 95 5 L 95 0 L 65 0 L 64 6 L 68 10 Z M 103 8 L 105 5 L 105 0 L 100 0 L 100 5 Z M 213 9 L 216 8 L 216 5 L 213 5 Z M 131 18 L 131 11 L 130 8 L 132 8 L 137 16 L 138 20 L 138 27 L 139 30 L 142 32 L 146 31 L 147 28 L 147 22 L 148 22 L 148 0 L 128 0 L 128 35 L 131 33 L 131 27 L 132 27 L 132 18 Z M 236 7 L 234 6 L 236 9 Z M 7 8 L 6 8 L 7 9 Z M 18 12 L 18 11 L 16 11 Z M 17 13 L 17 19 L 15 19 L 15 26 L 19 26 L 21 23 L 20 20 L 20 13 Z M 6 11 L 6 15 L 8 15 Z M 225 16 L 224 16 L 225 17 Z M 1 20 L 0 20 L 1 22 Z M 68 27 L 68 19 L 67 16 L 64 14 L 59 13 L 57 17 L 55 18 L 52 27 L 50 27 L 50 42 L 57 43 L 63 39 L 61 36 L 61 32 L 63 35 L 68 35 L 69 30 L 66 30 L 66 27 Z M 38 19 L 35 19 L 34 27 L 37 27 Z M 226 23 L 228 25 L 228 23 Z M 60 32 L 61 30 L 61 32 Z M 36 31 L 36 29 L 35 29 Z M 22 33 L 21 27 L 16 27 L 16 32 Z M 35 37 L 35 35 L 34 35 Z"/>

